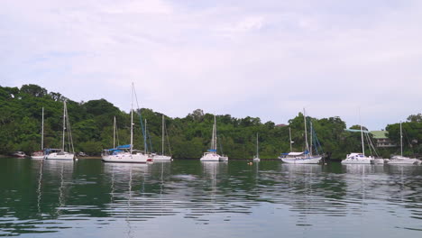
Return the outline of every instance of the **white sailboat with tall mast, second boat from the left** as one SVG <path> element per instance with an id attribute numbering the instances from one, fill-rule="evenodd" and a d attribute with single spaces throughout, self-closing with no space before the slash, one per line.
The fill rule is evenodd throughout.
<path id="1" fill-rule="evenodd" d="M 72 152 L 65 151 L 66 129 L 68 130 L 69 150 L 72 150 Z M 73 148 L 72 133 L 70 132 L 69 114 L 68 106 L 66 105 L 66 100 L 63 101 L 63 138 L 61 149 L 48 149 L 45 152 L 47 153 L 47 155 L 45 156 L 45 159 L 47 160 L 75 159 L 75 149 Z"/>

